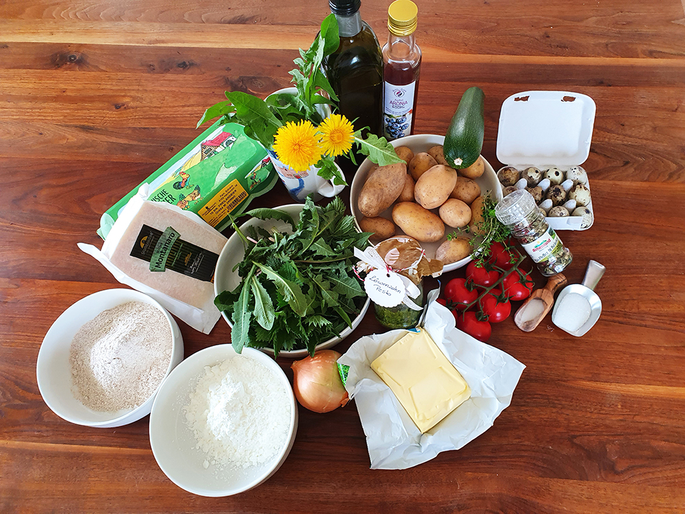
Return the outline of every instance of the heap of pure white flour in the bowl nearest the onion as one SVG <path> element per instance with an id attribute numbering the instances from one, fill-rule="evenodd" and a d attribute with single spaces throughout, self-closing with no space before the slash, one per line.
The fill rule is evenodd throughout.
<path id="1" fill-rule="evenodd" d="M 207 456 L 205 468 L 210 463 L 244 468 L 269 463 L 290 432 L 285 385 L 246 356 L 206 366 L 183 410 L 196 448 Z"/>

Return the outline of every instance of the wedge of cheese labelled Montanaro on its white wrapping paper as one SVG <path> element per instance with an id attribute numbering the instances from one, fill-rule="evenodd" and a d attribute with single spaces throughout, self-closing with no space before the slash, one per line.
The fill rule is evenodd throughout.
<path id="1" fill-rule="evenodd" d="M 193 212 L 147 201 L 147 186 L 129 199 L 102 249 L 79 243 L 116 280 L 158 300 L 208 334 L 221 313 L 214 306 L 214 271 L 227 238 Z"/>

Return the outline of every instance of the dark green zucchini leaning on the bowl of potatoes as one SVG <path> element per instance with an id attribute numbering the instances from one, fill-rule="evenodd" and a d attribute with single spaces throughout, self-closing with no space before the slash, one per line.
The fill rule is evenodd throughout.
<path id="1" fill-rule="evenodd" d="M 485 130 L 484 99 L 485 95 L 481 88 L 473 86 L 467 89 L 449 123 L 443 154 L 453 168 L 468 168 L 480 156 Z"/>

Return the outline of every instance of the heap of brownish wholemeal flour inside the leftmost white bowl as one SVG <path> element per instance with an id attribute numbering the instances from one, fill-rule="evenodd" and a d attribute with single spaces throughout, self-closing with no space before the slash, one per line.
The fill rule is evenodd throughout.
<path id="1" fill-rule="evenodd" d="M 158 308 L 126 302 L 85 323 L 71 341 L 74 394 L 93 411 L 145 403 L 171 361 L 171 327 Z"/>

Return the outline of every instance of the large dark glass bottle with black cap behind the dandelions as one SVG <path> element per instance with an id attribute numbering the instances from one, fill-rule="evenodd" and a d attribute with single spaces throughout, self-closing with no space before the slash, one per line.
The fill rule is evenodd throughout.
<path id="1" fill-rule="evenodd" d="M 360 0 L 329 0 L 329 5 L 338 21 L 340 46 L 325 58 L 323 66 L 338 95 L 340 114 L 353 122 L 355 130 L 369 127 L 369 132 L 380 136 L 383 110 L 381 47 L 373 29 L 362 21 Z"/>

